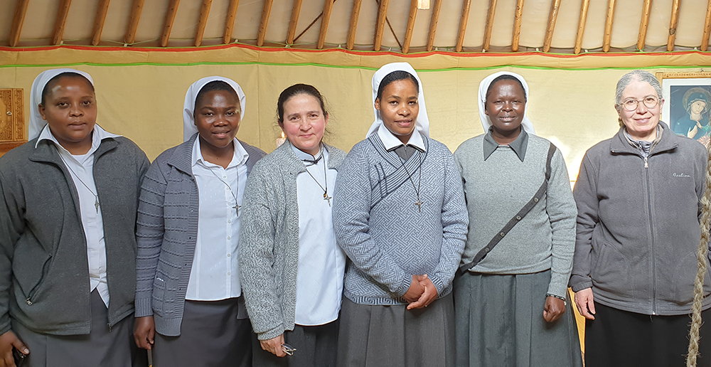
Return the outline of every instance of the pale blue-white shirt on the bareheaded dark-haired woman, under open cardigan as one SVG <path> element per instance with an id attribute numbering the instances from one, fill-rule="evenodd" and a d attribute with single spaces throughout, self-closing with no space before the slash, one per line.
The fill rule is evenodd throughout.
<path id="1" fill-rule="evenodd" d="M 299 159 L 313 161 L 311 154 L 295 147 Z M 328 151 L 321 147 L 317 164 L 306 164 L 306 170 L 296 176 L 296 196 L 299 205 L 299 271 L 296 272 L 296 324 L 314 326 L 338 319 L 343 294 L 343 272 L 346 255 L 336 244 L 331 205 L 324 199 L 333 196 L 338 171 L 326 169 Z M 326 177 L 324 177 L 326 175 Z M 313 176 L 313 177 L 312 177 Z M 318 181 L 318 184 L 316 183 Z M 321 186 L 319 186 L 319 184 Z"/>

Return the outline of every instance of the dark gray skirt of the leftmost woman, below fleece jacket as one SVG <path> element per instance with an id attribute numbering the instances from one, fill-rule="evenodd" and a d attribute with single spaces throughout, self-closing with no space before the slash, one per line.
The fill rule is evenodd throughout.
<path id="1" fill-rule="evenodd" d="M 146 351 L 134 342 L 133 315 L 109 329 L 99 292 L 92 292 L 90 299 L 92 328 L 87 335 L 41 334 L 12 320 L 12 331 L 30 349 L 23 367 L 147 366 Z"/>

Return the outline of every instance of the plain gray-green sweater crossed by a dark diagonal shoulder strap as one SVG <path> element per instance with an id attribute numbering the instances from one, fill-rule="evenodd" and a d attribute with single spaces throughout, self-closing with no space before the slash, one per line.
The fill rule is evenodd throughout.
<path id="1" fill-rule="evenodd" d="M 497 148 L 484 160 L 483 138 L 479 135 L 466 140 L 454 152 L 469 210 L 463 265 L 471 262 L 476 252 L 533 198 L 545 179 L 550 146 L 546 139 L 529 134 L 521 161 L 509 147 Z M 548 293 L 565 296 L 575 248 L 577 209 L 560 150 L 555 151 L 550 168 L 545 198 L 471 271 L 530 274 L 550 269 Z"/>

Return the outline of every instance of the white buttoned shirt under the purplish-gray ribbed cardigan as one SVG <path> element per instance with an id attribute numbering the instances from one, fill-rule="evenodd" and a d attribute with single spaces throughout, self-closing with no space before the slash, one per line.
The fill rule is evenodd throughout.
<path id="1" fill-rule="evenodd" d="M 242 205 L 245 164 L 250 155 L 237 139 L 234 144 L 235 155 L 227 169 L 203 159 L 199 137 L 193 144 L 192 168 L 200 203 L 198 238 L 185 296 L 193 301 L 218 301 L 242 294 L 237 264 L 241 213 L 235 206 Z"/>

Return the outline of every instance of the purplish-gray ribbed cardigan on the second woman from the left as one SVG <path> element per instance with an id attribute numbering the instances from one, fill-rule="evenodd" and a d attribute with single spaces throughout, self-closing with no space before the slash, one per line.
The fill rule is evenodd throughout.
<path id="1" fill-rule="evenodd" d="M 153 315 L 156 331 L 165 336 L 180 335 L 198 239 L 200 200 L 191 166 L 197 136 L 161 153 L 141 186 L 136 231 L 136 317 Z M 245 142 L 240 144 L 250 154 L 246 163 L 249 175 L 264 151 Z"/>

